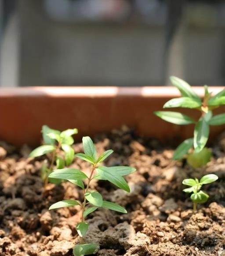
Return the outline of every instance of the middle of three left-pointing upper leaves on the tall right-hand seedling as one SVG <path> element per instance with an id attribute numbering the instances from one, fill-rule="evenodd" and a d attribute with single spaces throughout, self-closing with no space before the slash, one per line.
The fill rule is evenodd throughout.
<path id="1" fill-rule="evenodd" d="M 181 97 L 169 100 L 163 105 L 163 108 L 189 108 L 196 109 L 201 106 L 201 102 L 193 98 Z"/>

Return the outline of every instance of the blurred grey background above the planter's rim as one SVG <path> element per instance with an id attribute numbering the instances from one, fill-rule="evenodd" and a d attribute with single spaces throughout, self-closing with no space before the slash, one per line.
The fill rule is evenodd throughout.
<path id="1" fill-rule="evenodd" d="M 224 0 L 0 0 L 0 86 L 225 84 Z"/>

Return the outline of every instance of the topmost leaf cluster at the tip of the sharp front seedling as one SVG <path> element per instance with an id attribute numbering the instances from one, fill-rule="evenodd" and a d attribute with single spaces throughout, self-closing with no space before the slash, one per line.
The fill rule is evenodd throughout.
<path id="1" fill-rule="evenodd" d="M 86 136 L 86 137 L 83 137 L 82 141 L 83 141 L 84 154 L 78 153 L 76 154 L 76 157 L 81 158 L 84 161 L 90 162 L 93 165 L 103 162 L 105 158 L 107 158 L 110 154 L 113 153 L 113 150 L 110 149 L 105 151 L 99 157 L 97 157 L 97 151 L 91 138 Z"/>

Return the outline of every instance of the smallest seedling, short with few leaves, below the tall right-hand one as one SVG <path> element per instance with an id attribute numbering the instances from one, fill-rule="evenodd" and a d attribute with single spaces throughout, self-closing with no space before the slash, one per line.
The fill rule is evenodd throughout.
<path id="1" fill-rule="evenodd" d="M 185 188 L 183 191 L 185 193 L 192 193 L 191 200 L 193 202 L 193 211 L 197 211 L 197 204 L 198 203 L 205 203 L 209 195 L 203 192 L 201 189 L 203 184 L 209 184 L 214 181 L 218 180 L 218 177 L 215 174 L 208 174 L 203 176 L 200 181 L 198 179 L 185 179 L 183 180 L 184 185 L 190 186 L 190 188 Z"/>

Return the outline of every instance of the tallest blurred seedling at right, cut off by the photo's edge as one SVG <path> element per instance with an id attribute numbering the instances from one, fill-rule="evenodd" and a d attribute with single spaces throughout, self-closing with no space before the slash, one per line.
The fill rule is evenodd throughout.
<path id="1" fill-rule="evenodd" d="M 210 161 L 211 150 L 206 146 L 210 125 L 225 124 L 225 114 L 214 115 L 212 111 L 220 105 L 225 105 L 225 90 L 212 96 L 204 86 L 205 94 L 201 99 L 192 87 L 185 81 L 172 76 L 171 82 L 181 92 L 181 98 L 174 98 L 166 102 L 163 108 L 189 108 L 200 112 L 198 120 L 192 119 L 183 113 L 173 111 L 156 111 L 156 116 L 167 122 L 178 125 L 195 124 L 193 138 L 185 139 L 175 150 L 173 159 L 181 160 L 185 156 L 190 166 L 197 168 Z"/>

